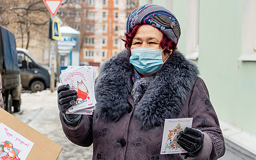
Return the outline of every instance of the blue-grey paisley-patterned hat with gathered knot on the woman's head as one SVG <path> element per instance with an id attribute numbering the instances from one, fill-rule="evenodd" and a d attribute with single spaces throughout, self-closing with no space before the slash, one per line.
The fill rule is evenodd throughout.
<path id="1" fill-rule="evenodd" d="M 156 27 L 175 43 L 178 43 L 181 36 L 181 28 L 176 17 L 160 5 L 143 5 L 133 10 L 126 23 L 126 32 L 131 33 L 139 24 Z"/>

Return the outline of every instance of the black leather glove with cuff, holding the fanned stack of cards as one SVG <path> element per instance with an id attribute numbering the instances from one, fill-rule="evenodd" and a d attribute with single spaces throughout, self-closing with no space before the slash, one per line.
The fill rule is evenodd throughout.
<path id="1" fill-rule="evenodd" d="M 58 107 L 64 119 L 64 122 L 68 125 L 78 122 L 81 118 L 80 114 L 65 114 L 66 109 L 71 107 L 77 99 L 76 91 L 73 89 L 70 89 L 69 84 L 67 84 L 67 85 L 60 85 L 57 89 L 57 92 L 58 92 Z"/>

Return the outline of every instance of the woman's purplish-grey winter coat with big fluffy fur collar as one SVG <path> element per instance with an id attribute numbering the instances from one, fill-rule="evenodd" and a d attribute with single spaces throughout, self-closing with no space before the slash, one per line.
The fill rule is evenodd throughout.
<path id="1" fill-rule="evenodd" d="M 224 155 L 219 121 L 195 64 L 173 52 L 134 106 L 130 56 L 125 50 L 101 66 L 93 116 L 83 115 L 75 128 L 60 116 L 67 138 L 85 147 L 93 143 L 93 160 L 184 160 L 181 154 L 160 155 L 163 125 L 166 118 L 193 117 L 192 127 L 203 131 L 204 143 L 197 157 L 187 159 Z"/>

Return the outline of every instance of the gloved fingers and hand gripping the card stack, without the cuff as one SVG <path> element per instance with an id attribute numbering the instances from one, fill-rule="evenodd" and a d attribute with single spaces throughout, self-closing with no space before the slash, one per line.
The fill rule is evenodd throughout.
<path id="1" fill-rule="evenodd" d="M 57 89 L 58 92 L 58 107 L 59 111 L 62 113 L 66 112 L 66 109 L 71 107 L 76 99 L 76 91 L 70 89 L 69 84 L 67 85 L 60 85 Z"/>

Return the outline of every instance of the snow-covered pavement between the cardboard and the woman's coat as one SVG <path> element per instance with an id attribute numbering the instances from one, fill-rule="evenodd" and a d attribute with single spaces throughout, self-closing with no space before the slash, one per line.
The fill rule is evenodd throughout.
<path id="1" fill-rule="evenodd" d="M 92 145 L 86 148 L 75 145 L 66 138 L 62 131 L 57 106 L 57 91 L 22 93 L 21 111 L 13 115 L 62 146 L 58 160 L 91 160 Z"/>

